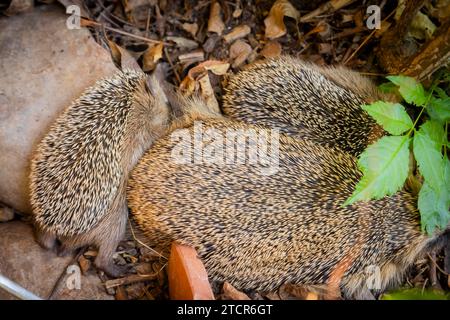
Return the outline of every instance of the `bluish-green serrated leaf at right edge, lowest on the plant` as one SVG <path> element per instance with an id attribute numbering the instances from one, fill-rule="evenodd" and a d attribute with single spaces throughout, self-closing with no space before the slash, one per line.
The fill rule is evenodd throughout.
<path id="1" fill-rule="evenodd" d="M 450 197 L 443 184 L 436 190 L 425 180 L 419 192 L 418 207 L 422 230 L 429 235 L 432 235 L 436 228 L 444 230 L 450 221 Z"/>

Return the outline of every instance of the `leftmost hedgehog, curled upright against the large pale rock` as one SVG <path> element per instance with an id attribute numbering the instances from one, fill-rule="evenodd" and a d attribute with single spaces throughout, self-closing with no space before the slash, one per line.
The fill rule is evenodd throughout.
<path id="1" fill-rule="evenodd" d="M 112 256 L 128 219 L 128 175 L 167 130 L 170 110 L 155 76 L 123 70 L 99 80 L 51 125 L 31 162 L 37 241 L 59 255 L 98 247 L 95 265 L 113 277 Z"/>

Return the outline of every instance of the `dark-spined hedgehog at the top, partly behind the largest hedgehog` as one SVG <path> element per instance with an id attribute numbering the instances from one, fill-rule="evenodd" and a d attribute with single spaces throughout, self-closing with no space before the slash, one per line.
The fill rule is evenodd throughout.
<path id="1" fill-rule="evenodd" d="M 319 67 L 282 56 L 232 76 L 225 87 L 223 112 L 359 155 L 384 135 L 361 105 L 392 99 L 345 67 Z"/>

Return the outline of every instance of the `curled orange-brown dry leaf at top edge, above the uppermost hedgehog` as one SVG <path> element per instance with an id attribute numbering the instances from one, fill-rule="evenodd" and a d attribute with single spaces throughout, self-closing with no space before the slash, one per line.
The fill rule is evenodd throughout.
<path id="1" fill-rule="evenodd" d="M 286 34 L 286 26 L 284 25 L 284 17 L 290 17 L 298 21 L 300 13 L 287 0 L 277 0 L 270 9 L 269 15 L 264 19 L 266 26 L 266 37 L 275 39 Z"/>

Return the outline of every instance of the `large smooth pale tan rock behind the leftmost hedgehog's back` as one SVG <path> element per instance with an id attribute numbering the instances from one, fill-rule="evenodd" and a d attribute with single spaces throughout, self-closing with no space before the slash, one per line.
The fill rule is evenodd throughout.
<path id="1" fill-rule="evenodd" d="M 30 213 L 35 145 L 69 103 L 116 71 L 87 29 L 69 30 L 57 5 L 0 18 L 0 202 Z"/>

